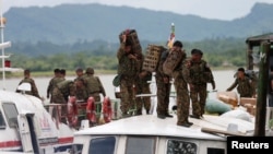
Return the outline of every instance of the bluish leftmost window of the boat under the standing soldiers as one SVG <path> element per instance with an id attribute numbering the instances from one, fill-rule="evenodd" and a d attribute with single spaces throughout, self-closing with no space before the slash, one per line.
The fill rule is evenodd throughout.
<path id="1" fill-rule="evenodd" d="M 88 154 L 114 154 L 116 145 L 115 137 L 92 139 Z"/>

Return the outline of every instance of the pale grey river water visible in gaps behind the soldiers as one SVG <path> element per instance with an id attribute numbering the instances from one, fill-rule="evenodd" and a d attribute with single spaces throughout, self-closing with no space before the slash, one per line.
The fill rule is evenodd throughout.
<path id="1" fill-rule="evenodd" d="M 235 78 L 235 70 L 224 70 L 224 71 L 213 71 L 214 80 L 216 83 L 216 90 L 217 91 L 225 91 L 232 83 L 234 82 Z M 115 74 L 97 74 L 99 76 L 105 91 L 106 95 L 108 95 L 110 98 L 115 98 L 115 86 L 112 85 L 112 79 L 115 78 Z M 73 80 L 75 76 L 67 76 L 68 80 Z M 36 86 L 38 88 L 38 92 L 40 96 L 46 98 L 46 91 L 49 83 L 49 80 L 51 78 L 33 78 L 35 80 Z M 9 90 L 9 91 L 15 91 L 19 82 L 22 79 L 5 79 L 4 82 L 1 81 L 0 85 L 1 88 Z M 174 86 L 173 86 L 174 87 Z M 211 91 L 212 86 L 211 84 L 207 85 L 207 90 Z M 234 90 L 236 92 L 236 90 Z"/>

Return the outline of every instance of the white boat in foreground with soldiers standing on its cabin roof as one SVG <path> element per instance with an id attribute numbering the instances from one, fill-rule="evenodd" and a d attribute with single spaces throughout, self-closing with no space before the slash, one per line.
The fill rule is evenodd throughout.
<path id="1" fill-rule="evenodd" d="M 177 118 L 141 115 L 74 132 L 76 154 L 203 154 L 226 153 L 228 135 L 251 135 L 254 123 L 236 118 L 204 115 L 189 119 L 190 128 L 177 126 Z"/>

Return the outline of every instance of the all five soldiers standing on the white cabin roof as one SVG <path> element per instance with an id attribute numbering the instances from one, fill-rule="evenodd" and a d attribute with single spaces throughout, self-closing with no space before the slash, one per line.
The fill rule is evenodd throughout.
<path id="1" fill-rule="evenodd" d="M 147 86 L 147 80 L 152 79 L 152 72 L 143 70 L 140 66 L 143 64 L 143 55 L 138 55 L 132 50 L 132 43 L 127 39 L 127 35 L 122 35 L 120 48 L 117 52 L 119 62 L 118 74 L 120 78 L 120 95 L 121 95 L 121 112 L 123 117 L 131 116 L 130 109 L 135 108 L 136 115 L 142 112 L 143 100 L 138 100 L 133 91 L 136 88 L 136 94 L 143 94 L 141 88 L 143 84 Z M 170 49 L 162 52 L 158 61 L 158 67 L 155 71 L 155 80 L 157 87 L 157 117 L 161 119 L 171 118 L 173 115 L 168 112 L 169 96 L 170 96 L 170 81 L 174 80 L 175 90 L 177 93 L 177 125 L 182 127 L 190 127 L 192 122 L 188 120 L 190 99 L 192 102 L 192 118 L 202 118 L 204 114 L 204 105 L 206 99 L 206 84 L 211 83 L 213 90 L 215 82 L 212 71 L 206 61 L 202 59 L 203 52 L 200 49 L 192 49 L 191 57 L 188 58 L 186 51 L 182 49 L 182 43 L 176 40 Z M 177 59 L 175 67 L 168 68 L 166 61 L 170 57 Z M 174 66 L 174 63 L 171 63 Z M 169 73 L 170 72 L 170 73 Z M 143 81 L 143 79 L 146 79 Z M 142 82 L 142 85 L 139 82 Z M 189 86 L 189 90 L 188 90 Z M 140 90 L 140 91 L 138 91 Z M 151 92 L 147 92 L 151 93 Z M 147 94 L 144 93 L 144 94 Z M 150 99 L 150 97 L 144 97 Z M 144 102 L 145 103 L 145 102 Z M 135 107 L 136 106 L 136 107 Z M 150 109 L 145 107 L 146 111 Z M 149 114 L 149 111 L 147 111 Z"/>

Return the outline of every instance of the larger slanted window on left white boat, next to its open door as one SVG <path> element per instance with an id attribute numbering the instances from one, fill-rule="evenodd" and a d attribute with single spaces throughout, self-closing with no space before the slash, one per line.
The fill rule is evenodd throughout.
<path id="1" fill-rule="evenodd" d="M 3 110 L 4 115 L 7 117 L 7 120 L 9 122 L 10 127 L 16 127 L 17 126 L 17 109 L 14 104 L 4 103 L 3 104 Z"/>

